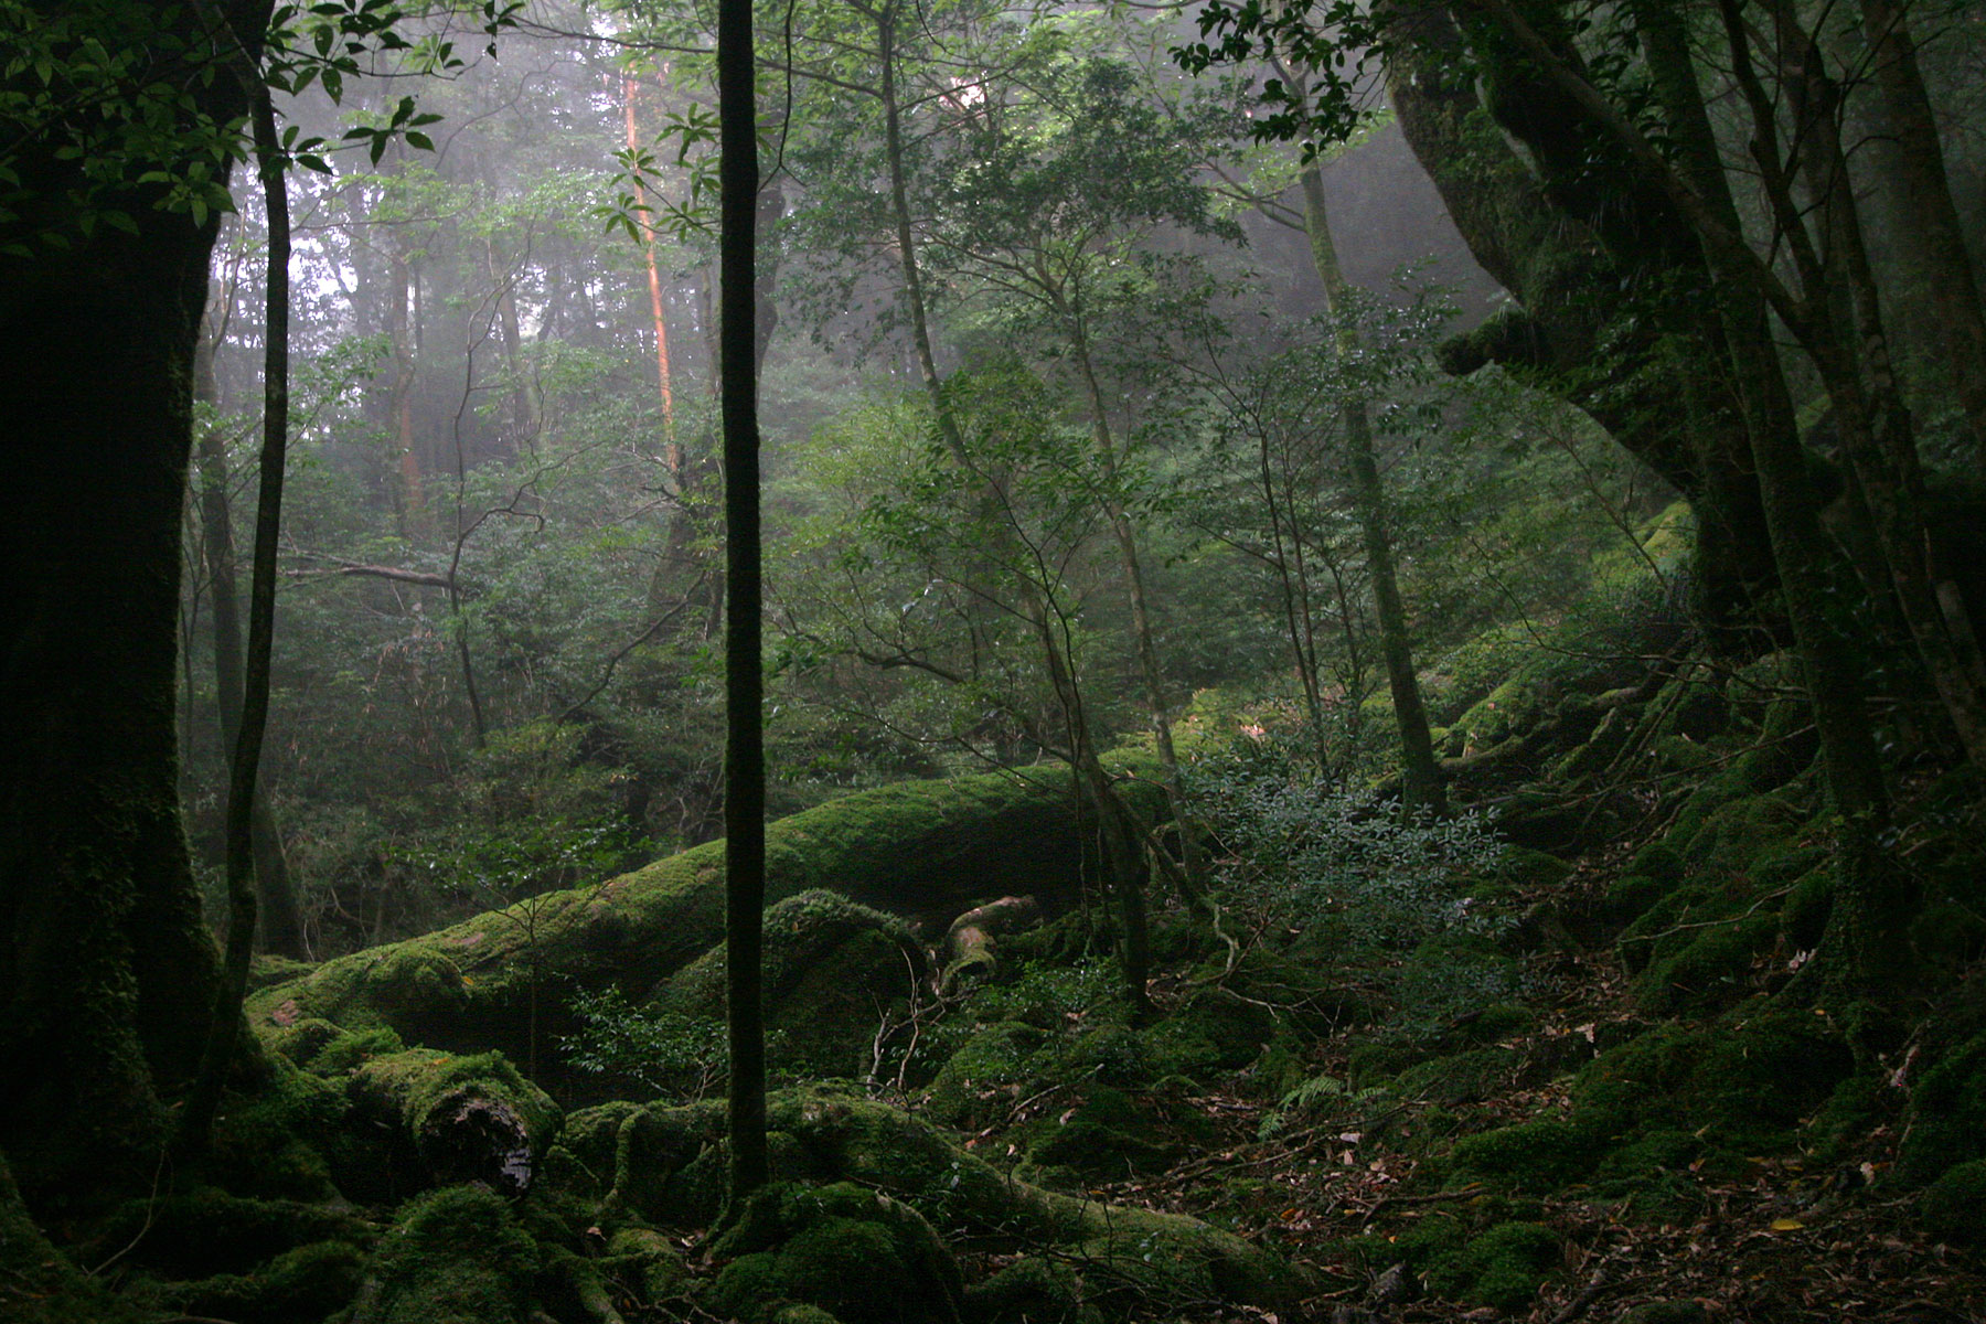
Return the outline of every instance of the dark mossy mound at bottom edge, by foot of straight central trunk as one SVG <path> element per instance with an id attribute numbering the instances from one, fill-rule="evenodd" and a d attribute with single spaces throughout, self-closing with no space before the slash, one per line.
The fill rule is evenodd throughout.
<path id="1" fill-rule="evenodd" d="M 963 1284 L 910 1205 L 846 1181 L 777 1183 L 733 1211 L 711 1257 L 731 1262 L 707 1292 L 715 1314 L 771 1316 L 800 1302 L 842 1324 L 957 1320 Z"/>

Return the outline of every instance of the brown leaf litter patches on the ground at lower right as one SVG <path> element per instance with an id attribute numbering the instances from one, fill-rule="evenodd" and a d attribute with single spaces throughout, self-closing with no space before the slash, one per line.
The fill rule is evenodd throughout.
<path id="1" fill-rule="evenodd" d="M 1597 869 L 1575 871 L 1551 889 L 1553 899 L 1565 905 L 1569 889 L 1603 889 L 1605 869 L 1617 869 L 1621 858 L 1621 850 L 1611 850 L 1609 861 Z M 1631 981 L 1611 949 L 1555 951 L 1533 955 L 1527 963 L 1529 985 L 1549 989 L 1549 1010 L 1535 1032 L 1497 1044 L 1523 1060 L 1563 1062 L 1563 1044 L 1591 1044 L 1599 1026 L 1642 1022 Z M 1766 971 L 1758 973 L 1770 979 Z M 1348 1030 L 1321 1042 L 1315 1060 L 1347 1078 L 1362 1034 Z M 1563 1078 L 1523 1084 L 1525 1076 L 1523 1070 L 1511 1072 L 1480 1098 L 1446 1098 L 1438 1108 L 1438 1125 L 1474 1133 L 1569 1106 Z M 1094 1187 L 1112 1203 L 1188 1213 L 1231 1227 L 1293 1260 L 1309 1262 L 1325 1278 L 1325 1290 L 1301 1308 L 1225 1308 L 1209 1312 L 1209 1320 L 1986 1320 L 1986 1257 L 1976 1249 L 1944 1245 L 1915 1227 L 1916 1193 L 1897 1191 L 1887 1181 L 1897 1157 L 1895 1125 L 1879 1125 L 1819 1163 L 1797 1149 L 1750 1157 L 1742 1171 L 1690 1163 L 1692 1217 L 1640 1219 L 1631 1201 L 1593 1197 L 1581 1185 L 1543 1197 L 1537 1219 L 1561 1239 L 1563 1266 L 1545 1280 L 1529 1308 L 1499 1310 L 1432 1298 L 1412 1272 L 1388 1274 L 1396 1260 L 1384 1251 L 1358 1245 L 1368 1239 L 1412 1241 L 1422 1219 L 1482 1203 L 1490 1199 L 1488 1191 L 1478 1183 L 1428 1189 L 1428 1183 L 1416 1181 L 1422 1159 L 1396 1149 L 1360 1149 L 1366 1139 L 1360 1127 L 1370 1125 L 1370 1118 L 1354 1114 L 1263 1139 L 1261 1122 L 1271 1104 L 1263 1102 L 1259 1084 L 1249 1072 L 1227 1084 L 1229 1090 L 1184 1100 L 1206 1127 L 1219 1133 L 1217 1143 L 1168 1171 Z M 1412 1137 L 1418 1114 L 1436 1110 L 1426 1098 L 1388 1098 L 1384 1106 L 1384 1120 L 1402 1139 Z M 1057 1102 L 1033 1108 L 1053 1110 Z M 1015 1116 L 1011 1122 L 1023 1120 Z M 981 1143 L 997 1145 L 997 1133 L 983 1135 Z M 1243 1201 L 1235 1201 L 1237 1179 L 1249 1191 Z M 1690 1310 L 1692 1304 L 1700 1314 Z M 1636 1316 L 1636 1306 L 1652 1312 Z"/>

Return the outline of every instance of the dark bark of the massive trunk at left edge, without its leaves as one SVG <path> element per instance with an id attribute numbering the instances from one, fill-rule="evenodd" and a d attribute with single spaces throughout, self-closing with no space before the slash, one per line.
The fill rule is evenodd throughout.
<path id="1" fill-rule="evenodd" d="M 226 6 L 260 32 L 266 6 Z M 177 12 L 177 22 L 191 16 Z M 189 85 L 220 121 L 232 79 Z M 71 165 L 28 143 L 26 226 L 64 226 Z M 28 1199 L 157 1171 L 218 969 L 177 806 L 173 723 L 191 369 L 214 224 L 115 199 L 68 254 L 0 268 L 0 1137 Z M 30 236 L 32 242 L 32 236 Z"/>

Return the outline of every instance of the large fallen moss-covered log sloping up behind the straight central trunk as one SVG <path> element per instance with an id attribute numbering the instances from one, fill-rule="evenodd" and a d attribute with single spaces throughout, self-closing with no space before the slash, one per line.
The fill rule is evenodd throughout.
<path id="1" fill-rule="evenodd" d="M 828 887 L 923 915 L 1007 891 L 1070 897 L 1080 879 L 1063 774 L 856 792 L 782 818 L 767 838 L 767 903 Z M 256 993 L 250 1022 L 385 1024 L 407 1042 L 530 1060 L 566 1028 L 556 1000 L 608 985 L 639 998 L 723 939 L 723 842 L 711 842 L 592 887 L 330 961 Z"/>

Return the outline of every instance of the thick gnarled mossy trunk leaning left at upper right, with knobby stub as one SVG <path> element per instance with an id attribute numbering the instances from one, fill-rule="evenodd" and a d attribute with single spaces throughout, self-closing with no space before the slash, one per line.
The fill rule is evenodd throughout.
<path id="1" fill-rule="evenodd" d="M 1621 220 L 1627 208 L 1607 206 L 1607 189 L 1567 187 L 1565 179 L 1587 177 L 1581 153 L 1591 147 L 1589 137 L 1559 127 L 1577 119 L 1577 107 L 1541 97 L 1549 89 L 1535 77 L 1519 81 L 1521 69 L 1505 56 L 1495 105 L 1509 117 L 1507 131 L 1531 135 L 1523 141 L 1547 171 L 1541 179 L 1490 123 L 1478 83 L 1458 73 L 1478 54 L 1464 46 L 1448 8 L 1394 0 L 1386 14 L 1396 38 L 1386 87 L 1406 141 L 1470 252 L 1521 304 L 1448 345 L 1444 367 L 1511 367 L 1585 409 L 1682 492 L 1698 526 L 1696 613 L 1720 651 L 1756 649 L 1760 590 L 1775 582 L 1772 540 L 1742 409 L 1718 385 L 1722 373 L 1708 369 L 1722 357 L 1702 337 L 1702 328 L 1716 326 L 1708 274 L 1674 246 L 1672 232 L 1686 226 Z M 1533 101 L 1551 113 L 1517 109 Z M 1605 171 L 1617 183 L 1627 173 L 1613 157 Z M 1646 200 L 1646 173 L 1621 189 Z M 1642 242 L 1648 230 L 1654 240 Z M 1593 373 L 1603 343 L 1617 369 Z M 1708 383 L 1712 399 L 1692 393 L 1696 381 Z"/>

